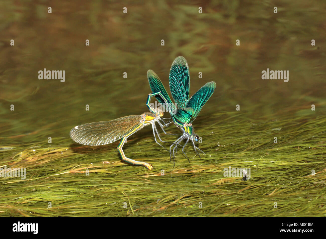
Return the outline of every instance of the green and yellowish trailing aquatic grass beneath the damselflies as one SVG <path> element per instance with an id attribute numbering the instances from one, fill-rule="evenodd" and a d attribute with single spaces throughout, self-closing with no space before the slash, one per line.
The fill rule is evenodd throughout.
<path id="1" fill-rule="evenodd" d="M 173 167 L 150 130 L 128 139 L 126 155 L 150 162 L 152 171 L 122 162 L 118 142 L 84 146 L 67 136 L 53 138 L 51 146 L 3 145 L 1 166 L 25 167 L 27 175 L 1 178 L 0 215 L 326 215 L 325 116 L 293 111 L 253 118 L 240 111 L 196 121 L 206 154 L 200 160 L 187 147 L 190 163 L 179 149 Z M 251 179 L 224 177 L 229 166 L 251 168 Z"/>

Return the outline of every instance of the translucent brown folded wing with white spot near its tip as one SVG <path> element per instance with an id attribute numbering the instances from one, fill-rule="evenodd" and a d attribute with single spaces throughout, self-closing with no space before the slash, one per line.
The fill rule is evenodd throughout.
<path id="1" fill-rule="evenodd" d="M 79 125 L 70 130 L 70 138 L 84 145 L 109 144 L 140 126 L 141 118 L 141 115 L 129 115 L 110 121 Z"/>

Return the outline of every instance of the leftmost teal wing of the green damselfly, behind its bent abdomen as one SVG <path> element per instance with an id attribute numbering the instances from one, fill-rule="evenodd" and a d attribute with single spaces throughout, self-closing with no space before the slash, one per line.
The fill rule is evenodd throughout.
<path id="1" fill-rule="evenodd" d="M 156 73 L 152 70 L 148 70 L 147 78 L 148 78 L 148 83 L 149 83 L 149 86 L 151 87 L 152 93 L 161 91 L 161 94 L 168 100 L 167 103 L 169 103 L 172 107 L 172 110 L 174 110 L 175 109 L 174 104 L 172 104 L 172 100 L 171 100 L 170 96 L 168 95 L 168 92 L 164 88 L 160 78 L 156 75 Z M 155 96 L 155 98 L 161 104 L 165 104 L 165 101 L 159 95 Z"/>

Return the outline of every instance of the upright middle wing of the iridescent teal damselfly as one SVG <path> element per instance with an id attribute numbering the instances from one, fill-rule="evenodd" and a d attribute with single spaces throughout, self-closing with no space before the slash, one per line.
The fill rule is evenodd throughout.
<path id="1" fill-rule="evenodd" d="M 184 57 L 174 59 L 169 75 L 171 95 L 178 108 L 186 108 L 189 100 L 189 67 Z"/>

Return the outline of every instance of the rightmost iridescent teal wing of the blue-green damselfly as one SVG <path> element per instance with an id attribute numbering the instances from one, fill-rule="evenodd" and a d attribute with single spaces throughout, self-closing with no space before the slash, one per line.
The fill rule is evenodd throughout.
<path id="1" fill-rule="evenodd" d="M 187 107 L 193 108 L 195 112 L 192 115 L 190 123 L 192 123 L 196 119 L 201 108 L 214 93 L 215 88 L 216 83 L 214 81 L 207 82 L 205 85 L 201 86 L 201 88 L 190 98 L 187 103 Z"/>

